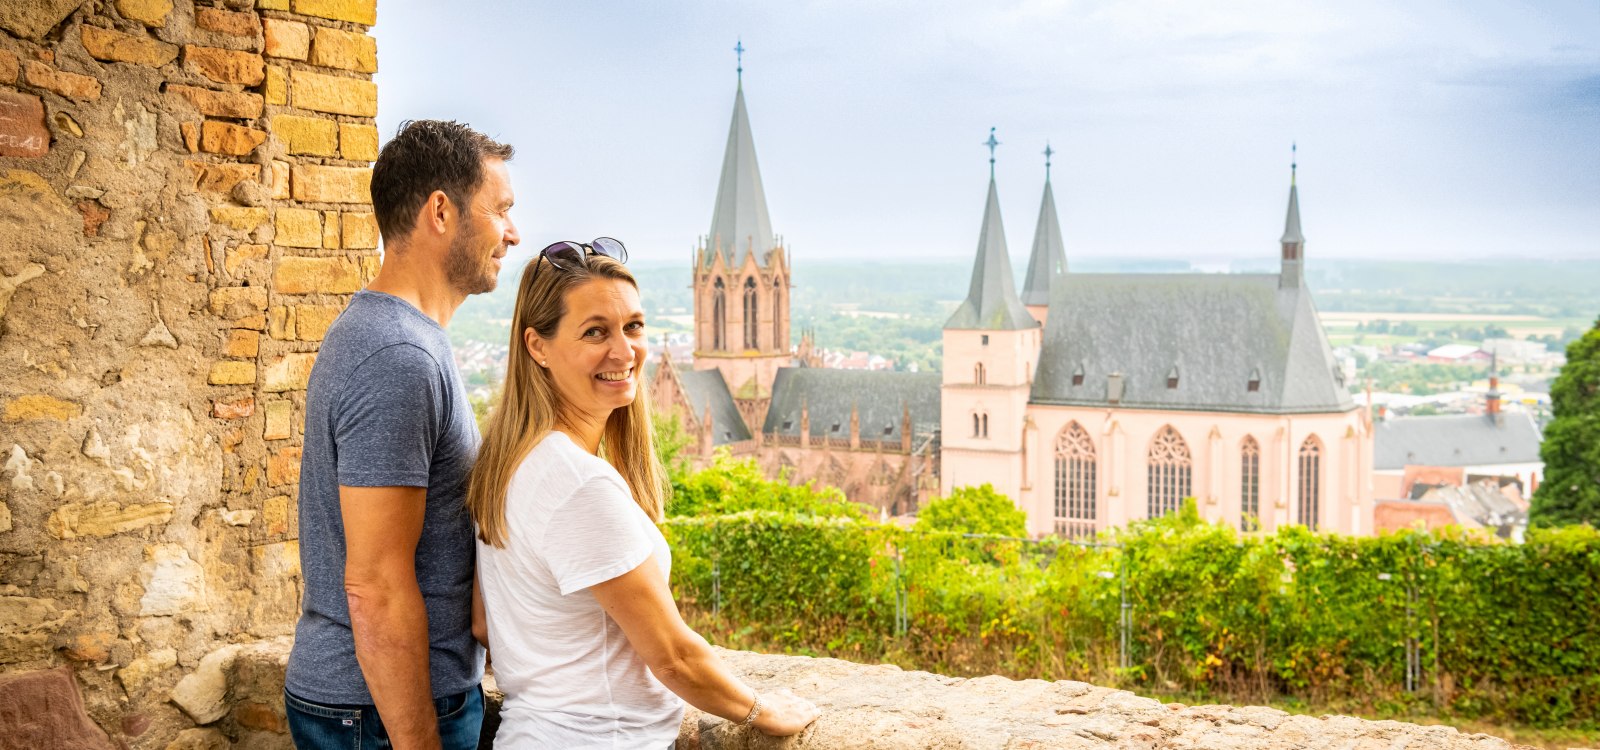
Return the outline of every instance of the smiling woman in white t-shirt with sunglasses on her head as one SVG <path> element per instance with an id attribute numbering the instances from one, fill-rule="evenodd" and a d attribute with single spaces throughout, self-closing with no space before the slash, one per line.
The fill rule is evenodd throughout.
<path id="1" fill-rule="evenodd" d="M 506 387 L 467 491 L 506 691 L 499 747 L 672 747 L 682 700 L 776 736 L 818 715 L 741 683 L 672 603 L 626 257 L 611 238 L 555 243 L 517 289 Z"/>

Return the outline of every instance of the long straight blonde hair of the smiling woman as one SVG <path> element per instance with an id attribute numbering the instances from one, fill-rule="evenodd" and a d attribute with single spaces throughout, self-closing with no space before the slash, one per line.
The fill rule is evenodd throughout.
<path id="1" fill-rule="evenodd" d="M 534 273 L 534 269 L 546 265 Z M 568 264 L 571 265 L 571 264 Z M 499 401 L 490 411 L 490 424 L 478 448 L 478 462 L 472 467 L 467 485 L 467 510 L 478 525 L 478 539 L 494 547 L 506 547 L 506 489 L 522 459 L 555 429 L 562 397 L 555 390 L 550 371 L 538 366 L 523 331 L 536 336 L 555 336 L 566 315 L 566 293 L 587 281 L 614 278 L 638 289 L 638 281 L 627 267 L 606 256 L 586 256 L 581 267 L 555 269 L 549 261 L 534 257 L 522 270 L 517 286 L 517 310 L 510 325 L 510 352 L 506 363 L 506 384 Z M 638 365 L 643 374 L 643 365 Z M 651 521 L 661 523 L 661 509 L 667 494 L 667 472 L 656 456 L 650 425 L 650 392 L 643 384 L 635 387 L 634 403 L 611 411 L 600 440 L 600 454 L 616 467 L 634 502 Z"/>

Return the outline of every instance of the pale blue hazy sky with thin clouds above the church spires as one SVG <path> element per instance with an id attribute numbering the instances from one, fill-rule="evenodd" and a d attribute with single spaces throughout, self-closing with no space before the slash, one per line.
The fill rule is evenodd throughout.
<path id="1" fill-rule="evenodd" d="M 970 257 L 995 126 L 1013 265 L 1045 142 L 1067 256 L 1600 259 L 1600 2 L 381 0 L 379 126 L 510 141 L 523 251 L 710 227 L 742 38 L 792 256 Z"/>

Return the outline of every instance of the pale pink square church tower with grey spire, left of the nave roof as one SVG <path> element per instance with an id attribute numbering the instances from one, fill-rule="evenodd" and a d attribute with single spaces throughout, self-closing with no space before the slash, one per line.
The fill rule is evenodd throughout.
<path id="1" fill-rule="evenodd" d="M 1021 501 L 1022 427 L 1043 328 L 1016 294 L 995 189 L 989 131 L 989 197 L 966 299 L 944 323 L 939 387 L 939 491 L 994 485 Z"/>

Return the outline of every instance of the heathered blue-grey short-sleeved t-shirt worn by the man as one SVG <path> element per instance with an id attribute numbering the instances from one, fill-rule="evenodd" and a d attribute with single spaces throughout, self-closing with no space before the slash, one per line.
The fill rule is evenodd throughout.
<path id="1" fill-rule="evenodd" d="M 306 593 L 285 683 L 323 704 L 373 702 L 344 595 L 339 485 L 427 488 L 416 579 L 427 606 L 434 697 L 483 680 L 472 638 L 477 550 L 467 472 L 478 427 L 445 329 L 406 301 L 360 291 L 328 328 L 306 393 L 299 544 Z"/>

